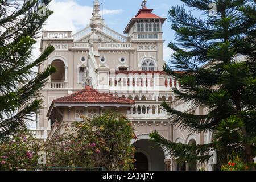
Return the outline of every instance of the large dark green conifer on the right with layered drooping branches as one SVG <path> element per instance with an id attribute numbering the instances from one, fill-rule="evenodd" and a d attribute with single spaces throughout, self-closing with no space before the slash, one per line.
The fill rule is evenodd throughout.
<path id="1" fill-rule="evenodd" d="M 182 6 L 169 11 L 176 43 L 174 54 L 164 71 L 179 80 L 181 89 L 173 89 L 177 101 L 208 109 L 207 115 L 177 111 L 162 103 L 174 125 L 193 133 L 213 133 L 209 144 L 176 144 L 150 134 L 154 142 L 170 151 L 181 162 L 208 162 L 216 151 L 217 163 L 226 162 L 233 151 L 253 164 L 256 156 L 256 71 L 255 2 L 246 0 L 181 0 L 200 11 L 197 18 Z M 211 12 L 212 6 L 216 10 Z M 213 15 L 213 16 L 212 16 Z M 205 16 L 205 19 L 203 19 Z M 243 56 L 243 61 L 237 57 Z M 180 72 L 177 72 L 180 71 Z M 251 169 L 255 170 L 254 166 Z"/>

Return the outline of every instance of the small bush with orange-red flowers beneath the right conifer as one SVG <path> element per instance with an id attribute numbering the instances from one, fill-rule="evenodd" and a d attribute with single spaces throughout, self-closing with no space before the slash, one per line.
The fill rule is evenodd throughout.
<path id="1" fill-rule="evenodd" d="M 243 162 L 243 160 L 237 155 L 236 157 L 230 157 L 228 164 L 221 166 L 222 171 L 250 171 L 251 164 Z"/>

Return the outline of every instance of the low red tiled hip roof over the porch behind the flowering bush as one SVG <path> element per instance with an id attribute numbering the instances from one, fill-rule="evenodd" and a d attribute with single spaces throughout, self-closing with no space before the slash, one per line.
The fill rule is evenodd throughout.
<path id="1" fill-rule="evenodd" d="M 111 96 L 100 93 L 87 86 L 69 96 L 61 97 L 52 101 L 53 103 L 105 103 L 105 104 L 134 104 L 135 101 L 126 98 Z"/>

